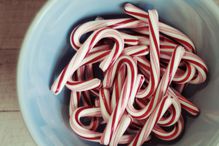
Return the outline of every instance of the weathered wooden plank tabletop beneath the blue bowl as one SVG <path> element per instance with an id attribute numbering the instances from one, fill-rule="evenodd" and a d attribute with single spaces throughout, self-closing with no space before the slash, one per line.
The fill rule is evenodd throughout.
<path id="1" fill-rule="evenodd" d="M 219 0 L 216 0 L 219 2 Z M 46 0 L 0 0 L 0 145 L 35 146 L 17 102 L 16 65 L 25 32 Z"/>

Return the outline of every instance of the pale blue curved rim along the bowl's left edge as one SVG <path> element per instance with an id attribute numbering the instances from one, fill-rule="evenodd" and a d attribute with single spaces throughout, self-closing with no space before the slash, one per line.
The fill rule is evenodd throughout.
<path id="1" fill-rule="evenodd" d="M 22 77 L 22 64 L 25 61 L 25 52 L 28 49 L 29 46 L 29 39 L 34 35 L 33 32 L 35 29 L 37 29 L 38 24 L 42 20 L 42 18 L 46 15 L 46 13 L 49 11 L 49 9 L 55 4 L 57 0 L 50 0 L 43 4 L 43 6 L 40 8 L 40 10 L 36 13 L 34 16 L 32 22 L 29 25 L 28 30 L 26 31 L 26 34 L 24 36 L 24 40 L 22 42 L 20 52 L 18 55 L 18 63 L 17 63 L 17 75 L 16 75 L 16 87 L 17 87 L 17 95 L 18 95 L 18 103 L 19 103 L 19 109 L 21 111 L 21 115 L 23 117 L 23 121 L 26 125 L 27 131 L 30 133 L 31 138 L 34 140 L 34 142 L 38 145 L 44 145 L 42 141 L 40 140 L 37 132 L 34 130 L 32 122 L 30 122 L 30 119 L 28 118 L 28 113 L 25 109 L 25 103 L 22 100 L 23 94 L 22 94 L 22 86 L 21 86 L 21 77 Z"/>

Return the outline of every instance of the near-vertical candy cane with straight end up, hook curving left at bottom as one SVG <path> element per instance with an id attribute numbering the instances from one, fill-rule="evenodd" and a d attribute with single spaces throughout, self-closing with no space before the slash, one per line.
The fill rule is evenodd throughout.
<path id="1" fill-rule="evenodd" d="M 160 44 L 157 11 L 149 11 L 150 28 L 150 80 L 146 89 L 141 90 L 136 95 L 138 98 L 150 97 L 158 86 L 160 81 Z"/>

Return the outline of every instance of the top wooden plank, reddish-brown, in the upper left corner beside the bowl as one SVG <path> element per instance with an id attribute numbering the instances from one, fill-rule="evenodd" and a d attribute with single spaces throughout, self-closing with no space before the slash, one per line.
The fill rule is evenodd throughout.
<path id="1" fill-rule="evenodd" d="M 18 49 L 45 0 L 0 0 L 0 49 Z"/>

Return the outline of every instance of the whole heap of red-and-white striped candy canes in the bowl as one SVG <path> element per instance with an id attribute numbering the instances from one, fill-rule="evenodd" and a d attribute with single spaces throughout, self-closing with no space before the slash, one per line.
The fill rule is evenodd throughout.
<path id="1" fill-rule="evenodd" d="M 152 135 L 174 140 L 184 127 L 181 111 L 199 113 L 181 92 L 203 83 L 207 67 L 192 41 L 159 22 L 156 10 L 127 3 L 124 12 L 131 17 L 97 18 L 72 31 L 76 53 L 51 90 L 71 90 L 70 125 L 82 139 L 111 146 L 140 146 Z M 94 77 L 95 64 L 103 79 Z"/>

